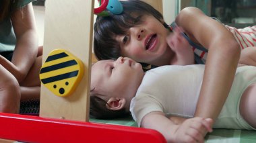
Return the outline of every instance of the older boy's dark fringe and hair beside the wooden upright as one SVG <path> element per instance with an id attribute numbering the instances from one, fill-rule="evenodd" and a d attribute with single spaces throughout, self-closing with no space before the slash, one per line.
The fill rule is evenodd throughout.
<path id="1" fill-rule="evenodd" d="M 127 34 L 129 28 L 141 23 L 143 15 L 153 15 L 164 22 L 162 14 L 143 1 L 120 1 L 123 12 L 119 15 L 98 16 L 94 23 L 94 54 L 98 60 L 117 59 L 121 56 L 119 42 L 115 36 Z M 166 23 L 163 23 L 166 27 Z"/>

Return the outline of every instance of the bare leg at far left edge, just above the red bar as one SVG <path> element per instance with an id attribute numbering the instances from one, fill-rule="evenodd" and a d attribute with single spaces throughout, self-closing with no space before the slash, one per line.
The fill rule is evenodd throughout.
<path id="1" fill-rule="evenodd" d="M 20 85 L 0 64 L 0 112 L 19 113 Z"/>

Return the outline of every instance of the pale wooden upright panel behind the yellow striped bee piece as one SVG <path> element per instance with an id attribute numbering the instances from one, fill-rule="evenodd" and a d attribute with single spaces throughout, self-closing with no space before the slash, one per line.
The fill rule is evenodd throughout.
<path id="1" fill-rule="evenodd" d="M 93 7 L 92 0 L 46 1 L 43 62 L 52 50 L 62 48 L 82 60 L 85 72 L 69 97 L 58 97 L 41 86 L 41 117 L 88 122 Z"/>

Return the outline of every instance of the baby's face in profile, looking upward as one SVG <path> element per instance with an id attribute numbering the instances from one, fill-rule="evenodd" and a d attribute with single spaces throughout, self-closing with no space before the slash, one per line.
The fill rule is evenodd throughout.
<path id="1" fill-rule="evenodd" d="M 130 101 L 143 79 L 141 64 L 130 58 L 100 60 L 92 66 L 91 89 L 96 90 L 106 101 L 110 97 L 124 97 Z"/>

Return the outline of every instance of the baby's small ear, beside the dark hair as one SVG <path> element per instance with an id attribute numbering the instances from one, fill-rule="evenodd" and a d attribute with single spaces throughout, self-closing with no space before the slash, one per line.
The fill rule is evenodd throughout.
<path id="1" fill-rule="evenodd" d="M 106 103 L 106 108 L 110 110 L 119 110 L 125 107 L 125 98 L 111 97 Z"/>

